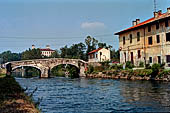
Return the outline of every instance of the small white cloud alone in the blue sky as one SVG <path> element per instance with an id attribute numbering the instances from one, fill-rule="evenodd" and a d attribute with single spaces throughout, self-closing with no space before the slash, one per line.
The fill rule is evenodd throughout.
<path id="1" fill-rule="evenodd" d="M 83 22 L 82 29 L 105 29 L 105 24 L 102 22 Z"/>

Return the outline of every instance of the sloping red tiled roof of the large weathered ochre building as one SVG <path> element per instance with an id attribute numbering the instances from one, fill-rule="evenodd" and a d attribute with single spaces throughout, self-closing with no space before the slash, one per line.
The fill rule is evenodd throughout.
<path id="1" fill-rule="evenodd" d="M 157 21 L 157 20 L 161 20 L 161 19 L 164 19 L 164 18 L 167 18 L 167 17 L 170 17 L 170 13 L 159 14 L 158 17 L 152 17 L 152 18 L 150 18 L 150 19 L 148 19 L 148 20 L 146 20 L 146 21 L 144 21 L 144 22 L 141 22 L 141 23 L 135 25 L 135 26 L 132 26 L 132 27 L 127 28 L 127 29 L 125 29 L 125 30 L 119 31 L 119 32 L 115 33 L 115 35 L 119 35 L 119 34 L 121 34 L 121 33 L 130 31 L 130 30 L 133 30 L 133 29 L 135 29 L 135 28 L 139 28 L 139 27 L 141 27 L 141 26 L 147 25 L 147 24 L 149 24 L 149 23 L 152 23 L 152 22 L 155 22 L 155 21 Z"/>

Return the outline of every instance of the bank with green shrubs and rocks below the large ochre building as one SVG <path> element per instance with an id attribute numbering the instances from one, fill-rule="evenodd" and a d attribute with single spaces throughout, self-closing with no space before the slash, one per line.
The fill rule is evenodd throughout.
<path id="1" fill-rule="evenodd" d="M 101 66 L 89 66 L 85 72 L 87 77 L 92 78 L 110 78 L 110 79 L 129 79 L 129 80 L 161 80 L 170 81 L 170 70 L 165 70 L 164 65 L 153 64 L 152 66 L 134 68 L 130 62 L 123 65 L 113 64 L 109 65 L 108 62 L 102 62 Z M 145 66 L 146 67 L 146 66 Z"/>

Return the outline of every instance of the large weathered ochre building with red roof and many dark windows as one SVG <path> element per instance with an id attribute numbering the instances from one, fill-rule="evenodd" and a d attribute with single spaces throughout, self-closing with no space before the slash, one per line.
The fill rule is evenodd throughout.
<path id="1" fill-rule="evenodd" d="M 119 35 L 120 63 L 165 63 L 170 67 L 170 8 L 166 13 L 160 10 L 154 12 L 154 17 L 144 22 L 136 19 L 132 24 L 115 33 Z"/>

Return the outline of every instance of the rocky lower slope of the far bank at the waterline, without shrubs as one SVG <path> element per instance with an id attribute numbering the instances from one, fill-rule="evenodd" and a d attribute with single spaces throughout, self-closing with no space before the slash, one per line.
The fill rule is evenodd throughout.
<path id="1" fill-rule="evenodd" d="M 170 70 L 161 70 L 158 75 L 152 76 L 151 69 L 143 70 L 109 70 L 103 72 L 93 72 L 86 74 L 87 78 L 105 78 L 105 79 L 127 79 L 127 80 L 155 80 L 169 81 Z"/>

